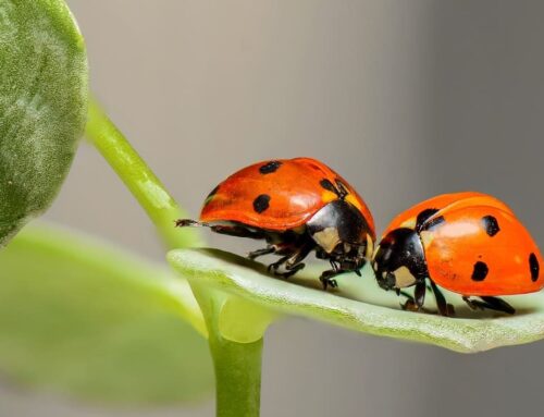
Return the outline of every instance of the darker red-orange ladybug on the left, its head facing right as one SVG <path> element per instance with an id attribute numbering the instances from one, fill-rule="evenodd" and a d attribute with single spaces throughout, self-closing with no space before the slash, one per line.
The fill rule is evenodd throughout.
<path id="1" fill-rule="evenodd" d="M 250 259 L 274 254 L 269 271 L 288 278 L 312 252 L 332 269 L 320 280 L 359 270 L 372 257 L 372 216 L 357 192 L 336 172 L 311 158 L 276 159 L 244 168 L 219 184 L 205 200 L 200 221 L 180 219 L 177 226 L 208 226 L 213 232 L 264 240 Z"/>

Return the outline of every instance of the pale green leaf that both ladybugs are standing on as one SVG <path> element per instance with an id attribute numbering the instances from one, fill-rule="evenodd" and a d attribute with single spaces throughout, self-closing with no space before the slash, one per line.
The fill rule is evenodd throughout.
<path id="1" fill-rule="evenodd" d="M 169 260 L 191 282 L 207 284 L 220 293 L 234 296 L 225 295 L 224 303 L 236 304 L 237 298 L 245 299 L 245 316 L 254 321 L 262 311 L 298 315 L 355 331 L 431 343 L 466 353 L 544 338 L 543 293 L 505 297 L 518 312 L 504 316 L 471 311 L 458 295 L 445 292 L 458 314 L 457 318 L 447 318 L 401 310 L 399 298 L 394 292 L 385 292 L 378 286 L 369 267 L 363 269 L 362 278 L 356 274 L 339 277 L 339 291 L 331 293 L 321 290 L 318 280 L 320 270 L 316 268 L 308 268 L 285 281 L 269 275 L 261 263 L 217 249 L 172 250 Z M 429 309 L 435 309 L 432 298 L 428 296 L 425 302 Z M 248 310 L 248 303 L 252 304 L 255 316 Z M 235 320 L 224 318 L 223 321 L 230 321 L 224 327 L 227 328 L 227 332 L 223 332 L 225 338 L 237 342 L 250 341 L 242 315 L 237 315 Z M 260 326 L 263 327 L 263 323 Z"/>

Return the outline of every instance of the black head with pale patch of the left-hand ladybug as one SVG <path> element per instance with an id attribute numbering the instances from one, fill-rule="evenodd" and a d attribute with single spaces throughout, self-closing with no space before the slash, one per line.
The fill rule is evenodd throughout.
<path id="1" fill-rule="evenodd" d="M 351 204 L 337 199 L 319 210 L 307 223 L 322 257 L 339 265 L 341 270 L 359 270 L 370 260 L 374 235 L 362 213 Z"/>

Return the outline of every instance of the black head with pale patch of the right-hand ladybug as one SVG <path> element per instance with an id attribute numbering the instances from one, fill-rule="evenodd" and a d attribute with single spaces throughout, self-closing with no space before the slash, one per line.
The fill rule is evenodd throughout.
<path id="1" fill-rule="evenodd" d="M 424 280 L 429 272 L 418 233 L 406 228 L 390 232 L 378 245 L 372 268 L 384 290 L 404 289 Z"/>

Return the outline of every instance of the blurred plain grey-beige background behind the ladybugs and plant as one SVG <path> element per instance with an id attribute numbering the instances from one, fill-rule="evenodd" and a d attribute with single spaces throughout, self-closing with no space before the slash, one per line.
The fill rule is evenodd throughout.
<path id="1" fill-rule="evenodd" d="M 364 196 L 379 230 L 423 198 L 478 189 L 506 200 L 544 244 L 544 2 L 69 4 L 94 90 L 193 213 L 240 167 L 311 156 Z M 47 217 L 163 257 L 85 144 Z M 294 319 L 267 334 L 262 415 L 537 415 L 543 354 L 535 343 L 465 356 Z M 0 415 L 211 416 L 213 404 L 112 410 L 3 382 Z"/>

